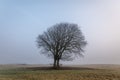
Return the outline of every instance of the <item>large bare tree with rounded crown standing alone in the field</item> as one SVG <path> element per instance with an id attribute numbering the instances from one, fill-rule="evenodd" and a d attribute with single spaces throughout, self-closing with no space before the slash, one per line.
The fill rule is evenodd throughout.
<path id="1" fill-rule="evenodd" d="M 87 42 L 77 24 L 59 23 L 47 29 L 37 38 L 38 48 L 43 54 L 54 59 L 54 68 L 60 60 L 73 60 L 82 56 Z"/>

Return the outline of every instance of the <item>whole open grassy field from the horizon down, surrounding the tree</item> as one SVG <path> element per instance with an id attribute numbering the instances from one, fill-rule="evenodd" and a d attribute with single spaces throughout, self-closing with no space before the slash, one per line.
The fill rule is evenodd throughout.
<path id="1" fill-rule="evenodd" d="M 44 66 L 0 65 L 0 80 L 120 80 L 119 65 Z"/>

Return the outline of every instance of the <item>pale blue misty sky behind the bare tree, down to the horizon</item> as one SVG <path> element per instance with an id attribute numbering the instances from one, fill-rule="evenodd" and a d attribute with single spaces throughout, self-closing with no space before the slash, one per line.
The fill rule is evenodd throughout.
<path id="1" fill-rule="evenodd" d="M 80 26 L 84 58 L 65 63 L 120 64 L 120 0 L 0 0 L 0 64 L 49 64 L 36 37 L 60 22 Z"/>

